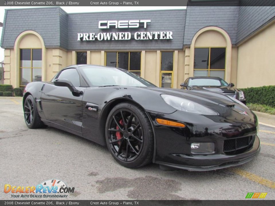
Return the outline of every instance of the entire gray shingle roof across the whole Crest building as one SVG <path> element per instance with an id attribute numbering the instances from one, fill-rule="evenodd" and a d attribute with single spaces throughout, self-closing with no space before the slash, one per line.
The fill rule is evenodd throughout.
<path id="1" fill-rule="evenodd" d="M 253 0 L 240 0 L 245 5 Z M 265 0 L 270 1 L 270 0 Z M 232 0 L 232 2 L 235 2 Z M 190 6 L 186 10 L 127 11 L 67 14 L 60 7 L 7 9 L 1 38 L 2 48 L 13 48 L 16 37 L 34 30 L 46 47 L 68 50 L 150 50 L 182 49 L 190 45 L 195 33 L 206 26 L 218 26 L 230 36 L 232 44 L 243 41 L 275 18 L 275 7 Z M 99 29 L 100 20 L 151 19 L 140 29 Z M 77 41 L 77 33 L 172 31 L 172 40 Z"/>

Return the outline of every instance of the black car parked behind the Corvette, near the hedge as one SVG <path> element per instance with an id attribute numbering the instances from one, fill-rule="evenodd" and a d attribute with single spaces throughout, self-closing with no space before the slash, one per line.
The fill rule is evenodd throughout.
<path id="1" fill-rule="evenodd" d="M 243 91 L 235 88 L 233 83 L 228 84 L 220 77 L 189 77 L 180 84 L 181 89 L 206 90 L 231 96 L 246 104 Z"/>

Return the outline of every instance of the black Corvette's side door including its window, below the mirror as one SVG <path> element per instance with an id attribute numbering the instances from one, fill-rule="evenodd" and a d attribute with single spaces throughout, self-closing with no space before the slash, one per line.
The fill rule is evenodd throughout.
<path id="1" fill-rule="evenodd" d="M 75 68 L 62 70 L 55 77 L 57 78 L 69 80 L 84 94 L 86 87 L 80 87 L 80 76 Z M 46 120 L 82 132 L 82 98 L 83 95 L 74 96 L 68 87 L 55 86 L 51 82 L 45 84 L 41 95 L 41 105 Z"/>

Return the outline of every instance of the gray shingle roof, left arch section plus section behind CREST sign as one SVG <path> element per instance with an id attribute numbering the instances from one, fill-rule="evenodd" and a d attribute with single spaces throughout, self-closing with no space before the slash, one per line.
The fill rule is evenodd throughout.
<path id="1" fill-rule="evenodd" d="M 5 12 L 5 29 L 3 29 L 5 31 L 2 33 L 1 47 L 12 48 L 16 37 L 22 31 L 34 30 L 42 36 L 46 47 L 63 47 L 71 50 L 182 49 L 185 12 L 185 10 L 165 10 L 67 14 L 59 7 L 8 9 Z M 173 31 L 173 40 L 128 40 L 123 43 L 121 41 L 76 41 L 77 33 L 81 32 L 119 32 L 118 29 L 102 31 L 98 28 L 100 20 L 131 19 L 151 19 L 151 23 L 147 29 L 128 29 L 127 31 L 131 33 L 140 30 Z"/>

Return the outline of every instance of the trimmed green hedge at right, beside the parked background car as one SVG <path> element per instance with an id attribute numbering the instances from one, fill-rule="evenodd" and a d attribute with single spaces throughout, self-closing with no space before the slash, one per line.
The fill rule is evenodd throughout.
<path id="1" fill-rule="evenodd" d="M 246 103 L 265 104 L 275 107 L 275 85 L 250 87 L 241 90 L 244 93 Z"/>

